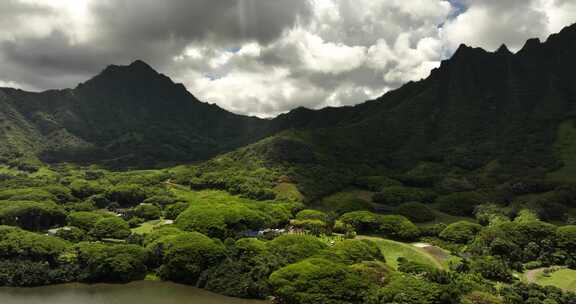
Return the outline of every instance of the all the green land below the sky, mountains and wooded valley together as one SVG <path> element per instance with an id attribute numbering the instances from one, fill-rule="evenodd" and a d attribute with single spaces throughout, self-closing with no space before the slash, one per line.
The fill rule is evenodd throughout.
<path id="1" fill-rule="evenodd" d="M 574 304 L 574 53 L 576 25 L 462 45 L 375 100 L 274 119 L 143 61 L 1 88 L 0 302 Z"/>

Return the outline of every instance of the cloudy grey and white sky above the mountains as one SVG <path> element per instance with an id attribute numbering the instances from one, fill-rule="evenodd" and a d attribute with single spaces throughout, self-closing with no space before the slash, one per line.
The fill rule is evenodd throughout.
<path id="1" fill-rule="evenodd" d="M 575 0 L 1 0 L 0 87 L 75 87 L 141 59 L 273 117 L 376 98 L 461 43 L 514 51 L 575 22 Z"/>

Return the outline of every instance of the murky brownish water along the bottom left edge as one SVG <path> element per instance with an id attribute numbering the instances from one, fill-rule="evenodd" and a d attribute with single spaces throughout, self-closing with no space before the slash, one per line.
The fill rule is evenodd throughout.
<path id="1" fill-rule="evenodd" d="M 65 284 L 36 288 L 0 288 L 2 304 L 268 304 L 221 296 L 170 282 L 124 285 Z"/>

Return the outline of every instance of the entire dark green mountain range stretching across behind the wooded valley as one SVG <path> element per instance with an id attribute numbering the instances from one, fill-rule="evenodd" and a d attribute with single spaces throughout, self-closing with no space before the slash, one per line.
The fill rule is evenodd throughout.
<path id="1" fill-rule="evenodd" d="M 229 153 L 272 167 L 409 170 L 429 162 L 548 174 L 576 167 L 569 153 L 576 146 L 574 54 L 576 25 L 545 42 L 528 40 L 516 53 L 462 45 L 428 78 L 376 100 L 274 119 L 203 103 L 142 61 L 109 66 L 74 89 L 0 88 L 0 161 L 147 167 Z"/>

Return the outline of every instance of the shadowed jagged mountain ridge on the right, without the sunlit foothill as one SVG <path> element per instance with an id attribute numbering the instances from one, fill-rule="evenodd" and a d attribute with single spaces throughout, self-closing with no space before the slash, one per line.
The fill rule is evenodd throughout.
<path id="1" fill-rule="evenodd" d="M 325 141 L 331 134 L 334 150 L 357 142 L 352 158 L 363 155 L 392 166 L 422 159 L 469 168 L 491 160 L 554 166 L 558 125 L 576 114 L 574 53 L 576 26 L 544 43 L 529 40 L 516 54 L 505 46 L 492 53 L 462 45 L 427 79 L 377 100 L 299 110 L 277 120 L 323 129 L 309 136 L 317 133 Z"/>

